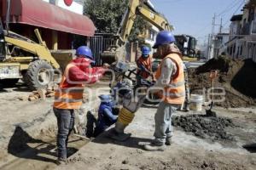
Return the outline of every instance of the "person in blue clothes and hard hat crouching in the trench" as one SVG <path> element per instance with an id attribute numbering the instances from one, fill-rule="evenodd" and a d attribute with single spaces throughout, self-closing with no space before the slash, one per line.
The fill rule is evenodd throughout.
<path id="1" fill-rule="evenodd" d="M 118 119 L 119 110 L 111 95 L 102 94 L 99 96 L 101 105 L 98 111 L 98 119 L 94 135 L 97 136 L 113 125 Z"/>

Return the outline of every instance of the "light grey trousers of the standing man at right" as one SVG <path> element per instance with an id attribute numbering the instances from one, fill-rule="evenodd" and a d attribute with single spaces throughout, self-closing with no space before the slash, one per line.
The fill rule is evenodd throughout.
<path id="1" fill-rule="evenodd" d="M 180 105 L 168 104 L 164 101 L 160 105 L 154 115 L 154 143 L 165 144 L 166 138 L 172 137 L 172 113 L 177 110 Z"/>

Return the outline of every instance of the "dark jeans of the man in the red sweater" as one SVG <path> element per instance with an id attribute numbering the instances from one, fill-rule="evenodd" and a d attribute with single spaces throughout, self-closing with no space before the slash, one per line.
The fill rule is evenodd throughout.
<path id="1" fill-rule="evenodd" d="M 67 141 L 68 136 L 74 126 L 74 111 L 68 109 L 54 108 L 55 116 L 57 117 L 58 134 L 57 134 L 57 149 L 58 158 L 67 159 Z"/>

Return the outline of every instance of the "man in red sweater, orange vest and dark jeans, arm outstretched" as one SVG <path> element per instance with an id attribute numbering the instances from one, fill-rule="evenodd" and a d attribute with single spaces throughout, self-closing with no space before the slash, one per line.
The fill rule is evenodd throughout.
<path id="1" fill-rule="evenodd" d="M 108 68 L 91 68 L 93 56 L 90 48 L 81 46 L 76 50 L 76 59 L 73 59 L 66 67 L 59 88 L 55 91 L 55 102 L 53 110 L 57 117 L 58 134 L 57 150 L 58 161 L 67 160 L 67 141 L 68 136 L 74 126 L 74 110 L 82 105 L 84 84 L 94 83 L 102 77 Z"/>

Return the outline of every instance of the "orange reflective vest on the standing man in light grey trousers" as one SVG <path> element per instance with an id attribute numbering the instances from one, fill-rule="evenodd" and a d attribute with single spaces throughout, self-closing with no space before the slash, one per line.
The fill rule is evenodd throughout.
<path id="1" fill-rule="evenodd" d="M 183 73 L 183 61 L 178 54 L 168 54 L 164 59 L 170 58 L 177 66 L 177 72 L 172 75 L 171 82 L 164 88 L 163 91 L 158 93 L 161 99 L 164 99 L 169 104 L 183 104 L 185 101 L 185 82 Z M 156 79 L 161 75 L 162 61 L 160 67 L 155 73 Z"/>

